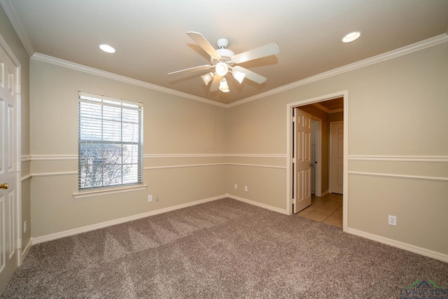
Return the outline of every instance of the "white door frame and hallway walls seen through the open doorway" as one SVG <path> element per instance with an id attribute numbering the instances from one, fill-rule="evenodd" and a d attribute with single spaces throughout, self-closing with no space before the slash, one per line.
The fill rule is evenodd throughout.
<path id="1" fill-rule="evenodd" d="M 339 107 L 338 107 L 339 105 Z M 319 181 L 321 186 L 315 186 L 315 195 L 326 195 L 330 192 L 330 123 L 340 121 L 344 122 L 343 130 L 346 133 L 348 128 L 348 92 L 337 92 L 331 95 L 324 95 L 321 97 L 316 97 L 312 99 L 307 99 L 300 102 L 290 103 L 287 105 L 287 113 L 288 113 L 288 128 L 287 128 L 287 210 L 288 214 L 297 213 L 297 209 L 295 209 L 295 193 L 300 195 L 300 190 L 295 190 L 297 186 L 295 186 L 295 180 L 299 177 L 297 174 L 297 168 L 295 165 L 295 157 L 293 155 L 294 151 L 297 151 L 295 148 L 295 139 L 293 135 L 296 134 L 295 127 L 293 124 L 294 119 L 294 109 L 303 109 L 307 113 L 310 113 L 312 117 L 315 119 L 312 123 L 319 123 L 321 125 L 321 160 L 318 158 L 316 160 L 311 161 L 311 165 L 314 166 L 319 165 L 321 167 L 321 174 L 316 172 L 316 182 Z M 317 121 L 318 120 L 318 121 Z M 342 228 L 344 231 L 347 229 L 347 203 L 348 203 L 348 137 L 347 134 L 344 134 L 344 140 L 342 151 L 344 153 L 344 158 L 342 161 L 342 202 L 343 202 L 343 213 L 342 213 Z M 297 137 L 295 137 L 297 139 Z M 318 146 L 316 144 L 316 150 Z M 311 159 L 310 159 L 311 160 Z M 314 162 L 314 163 L 313 163 Z M 317 164 L 315 163 L 317 162 Z M 303 169 L 302 169 L 303 170 Z M 309 168 L 311 172 L 311 166 Z M 310 189 L 311 189 L 311 181 L 310 181 Z M 320 194 L 319 194 L 320 192 Z"/>

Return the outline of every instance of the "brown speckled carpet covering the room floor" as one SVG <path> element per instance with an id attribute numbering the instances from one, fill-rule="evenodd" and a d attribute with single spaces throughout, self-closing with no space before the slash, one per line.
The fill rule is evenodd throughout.
<path id="1" fill-rule="evenodd" d="M 415 281 L 446 291 L 448 263 L 225 198 L 36 244 L 1 298 L 401 298 Z"/>

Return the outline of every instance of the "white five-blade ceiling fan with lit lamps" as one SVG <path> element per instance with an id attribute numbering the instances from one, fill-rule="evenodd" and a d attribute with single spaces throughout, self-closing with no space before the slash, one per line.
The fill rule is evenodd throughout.
<path id="1" fill-rule="evenodd" d="M 211 92 L 218 89 L 222 92 L 230 91 L 227 84 L 227 79 L 225 78 L 225 75 L 228 73 L 232 73 L 233 78 L 235 78 L 239 84 L 243 82 L 244 78 L 248 78 L 255 83 L 264 83 L 267 78 L 248 69 L 244 69 L 244 67 L 234 66 L 234 64 L 240 64 L 279 53 L 279 46 L 275 43 L 268 43 L 265 46 L 235 55 L 232 50 L 227 48 L 229 45 L 228 39 L 218 39 L 218 41 L 216 41 L 218 49 L 215 49 L 199 32 L 187 32 L 187 35 L 190 36 L 190 38 L 193 39 L 193 41 L 195 41 L 197 45 L 202 48 L 202 50 L 210 55 L 211 64 L 191 67 L 190 69 L 182 69 L 181 71 L 173 71 L 168 75 L 193 73 L 196 71 L 209 71 L 212 69 L 212 71 L 209 71 L 207 74 L 201 76 L 205 85 L 209 85 L 211 81 Z"/>

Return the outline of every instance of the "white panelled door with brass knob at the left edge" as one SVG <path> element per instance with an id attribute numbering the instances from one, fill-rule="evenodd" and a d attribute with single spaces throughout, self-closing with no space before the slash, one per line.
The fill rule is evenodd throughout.
<path id="1" fill-rule="evenodd" d="M 15 91 L 18 67 L 0 45 L 0 293 L 19 265 L 18 119 Z"/>

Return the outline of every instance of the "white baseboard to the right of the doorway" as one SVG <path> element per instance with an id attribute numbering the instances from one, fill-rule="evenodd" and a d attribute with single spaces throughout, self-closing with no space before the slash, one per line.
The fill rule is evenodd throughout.
<path id="1" fill-rule="evenodd" d="M 386 237 L 381 237 L 379 235 L 373 235 L 373 234 L 370 234 L 369 232 L 363 232 L 361 230 L 355 230 L 353 228 L 349 228 L 347 230 L 347 232 L 349 232 L 351 235 L 357 235 L 359 237 L 371 239 L 373 241 L 377 241 L 377 242 L 380 242 L 383 244 L 398 247 L 400 249 L 418 253 L 418 254 L 421 254 L 422 256 L 428 256 L 429 258 L 435 258 L 436 260 L 442 260 L 443 262 L 448 263 L 448 255 L 444 254 L 444 253 L 432 251 L 429 249 L 424 249 L 419 246 L 414 246 L 412 244 L 395 241 L 394 239 L 388 239 Z"/>

